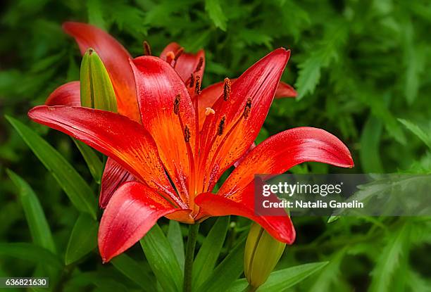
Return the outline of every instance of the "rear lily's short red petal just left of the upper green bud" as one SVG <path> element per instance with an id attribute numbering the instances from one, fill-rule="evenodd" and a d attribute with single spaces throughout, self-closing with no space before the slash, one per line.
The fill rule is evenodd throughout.
<path id="1" fill-rule="evenodd" d="M 45 101 L 46 106 L 80 106 L 80 82 L 73 81 L 61 85 Z"/>

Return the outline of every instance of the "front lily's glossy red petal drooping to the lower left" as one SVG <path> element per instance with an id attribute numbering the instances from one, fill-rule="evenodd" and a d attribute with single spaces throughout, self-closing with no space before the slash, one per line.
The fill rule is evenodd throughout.
<path id="1" fill-rule="evenodd" d="M 175 212 L 157 191 L 139 182 L 126 182 L 115 191 L 101 217 L 99 251 L 104 262 L 133 246 L 156 224 Z"/>

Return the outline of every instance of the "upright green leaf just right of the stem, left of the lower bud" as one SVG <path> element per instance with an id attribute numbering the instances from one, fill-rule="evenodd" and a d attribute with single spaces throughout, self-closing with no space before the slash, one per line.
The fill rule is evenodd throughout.
<path id="1" fill-rule="evenodd" d="M 225 241 L 230 217 L 219 217 L 204 239 L 193 263 L 193 286 L 199 287 L 214 269 Z"/>

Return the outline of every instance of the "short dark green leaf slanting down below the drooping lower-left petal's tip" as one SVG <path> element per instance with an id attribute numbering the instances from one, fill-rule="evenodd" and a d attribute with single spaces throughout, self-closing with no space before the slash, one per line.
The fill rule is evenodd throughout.
<path id="1" fill-rule="evenodd" d="M 116 256 L 111 260 L 112 265 L 122 272 L 127 278 L 138 284 L 144 291 L 153 292 L 156 291 L 156 286 L 154 286 L 154 279 L 149 277 L 149 274 L 142 269 L 139 263 L 135 262 L 125 253 Z"/>

